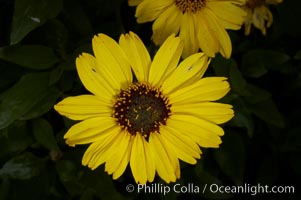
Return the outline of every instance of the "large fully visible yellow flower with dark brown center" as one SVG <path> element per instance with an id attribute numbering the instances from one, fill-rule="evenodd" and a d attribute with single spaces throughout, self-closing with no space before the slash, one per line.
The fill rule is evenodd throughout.
<path id="1" fill-rule="evenodd" d="M 155 173 L 167 183 L 180 177 L 179 159 L 195 164 L 200 147 L 221 143 L 216 124 L 233 117 L 232 106 L 211 102 L 229 90 L 223 77 L 201 78 L 209 59 L 194 54 L 179 65 L 180 38 L 170 36 L 153 61 L 137 35 L 121 35 L 119 44 L 99 34 L 95 56 L 76 59 L 78 75 L 92 94 L 68 97 L 55 110 L 82 120 L 65 134 L 70 146 L 90 144 L 82 164 L 120 177 L 128 163 L 137 183 Z M 133 77 L 132 71 L 135 78 Z"/>

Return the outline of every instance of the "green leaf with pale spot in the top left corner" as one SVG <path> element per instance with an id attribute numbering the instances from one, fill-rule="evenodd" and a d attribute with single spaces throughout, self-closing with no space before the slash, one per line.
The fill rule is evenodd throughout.
<path id="1" fill-rule="evenodd" d="M 56 17 L 62 7 L 62 0 L 15 0 L 10 43 L 20 42 L 32 30 Z"/>

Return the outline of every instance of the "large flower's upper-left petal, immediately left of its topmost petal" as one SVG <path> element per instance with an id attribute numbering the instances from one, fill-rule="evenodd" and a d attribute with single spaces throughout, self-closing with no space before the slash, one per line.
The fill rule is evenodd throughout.
<path id="1" fill-rule="evenodd" d="M 103 71 L 107 82 L 116 91 L 128 87 L 132 82 L 132 72 L 121 47 L 105 34 L 95 36 L 92 44 L 99 70 Z"/>

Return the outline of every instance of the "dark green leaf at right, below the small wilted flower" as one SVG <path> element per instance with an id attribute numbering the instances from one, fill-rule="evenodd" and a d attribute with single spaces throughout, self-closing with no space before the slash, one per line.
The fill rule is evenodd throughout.
<path id="1" fill-rule="evenodd" d="M 258 78 L 269 69 L 277 69 L 290 60 L 290 56 L 274 50 L 256 49 L 247 52 L 242 57 L 242 73 L 249 77 Z"/>

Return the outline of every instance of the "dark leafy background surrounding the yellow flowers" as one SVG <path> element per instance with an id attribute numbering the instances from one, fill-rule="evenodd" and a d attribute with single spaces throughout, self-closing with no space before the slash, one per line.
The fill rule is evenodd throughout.
<path id="1" fill-rule="evenodd" d="M 217 55 L 205 76 L 226 76 L 235 118 L 223 125 L 219 149 L 203 149 L 196 165 L 181 163 L 181 185 L 294 186 L 295 194 L 137 194 L 129 169 L 116 181 L 81 166 L 87 145 L 68 147 L 75 122 L 53 110 L 87 93 L 75 58 L 91 39 L 118 40 L 134 31 L 151 54 L 151 23 L 137 24 L 125 0 L 0 0 L 0 199 L 300 199 L 301 1 L 271 6 L 274 23 L 262 36 L 229 31 L 231 59 Z M 159 177 L 156 183 L 165 184 Z M 172 187 L 172 185 L 170 185 Z M 202 193 L 202 192 L 200 192 Z"/>

